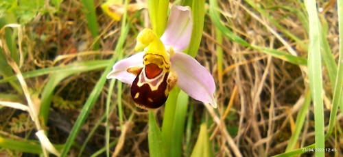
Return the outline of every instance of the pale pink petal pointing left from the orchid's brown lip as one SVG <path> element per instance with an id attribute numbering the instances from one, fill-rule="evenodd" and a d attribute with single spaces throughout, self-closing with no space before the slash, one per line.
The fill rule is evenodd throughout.
<path id="1" fill-rule="evenodd" d="M 136 76 L 126 70 L 130 67 L 143 66 L 143 55 L 144 52 L 141 52 L 118 61 L 113 66 L 113 70 L 108 73 L 107 79 L 116 78 L 123 83 L 132 84 Z"/>

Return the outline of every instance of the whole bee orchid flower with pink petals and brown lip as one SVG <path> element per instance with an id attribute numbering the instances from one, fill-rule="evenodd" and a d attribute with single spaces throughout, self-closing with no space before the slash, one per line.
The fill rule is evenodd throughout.
<path id="1" fill-rule="evenodd" d="M 196 59 L 182 53 L 189 46 L 192 25 L 190 8 L 174 5 L 161 38 L 143 29 L 135 50 L 144 51 L 115 63 L 107 78 L 131 84 L 132 99 L 142 109 L 162 106 L 175 85 L 216 108 L 213 77 Z"/>

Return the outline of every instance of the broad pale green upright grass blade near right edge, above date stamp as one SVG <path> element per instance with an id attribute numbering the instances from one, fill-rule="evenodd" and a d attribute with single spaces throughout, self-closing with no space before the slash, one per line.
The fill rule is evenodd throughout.
<path id="1" fill-rule="evenodd" d="M 320 28 L 315 0 L 307 1 L 309 14 L 309 87 L 314 102 L 314 128 L 316 149 L 324 150 L 324 109 L 322 98 L 322 61 L 320 57 Z M 324 151 L 316 152 L 316 156 L 324 156 Z"/>

